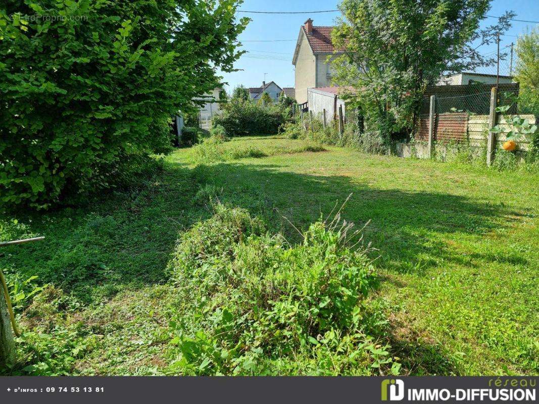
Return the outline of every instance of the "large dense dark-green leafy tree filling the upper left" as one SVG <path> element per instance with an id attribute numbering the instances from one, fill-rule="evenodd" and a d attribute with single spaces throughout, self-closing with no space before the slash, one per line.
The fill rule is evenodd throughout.
<path id="1" fill-rule="evenodd" d="M 168 152 L 171 116 L 239 57 L 239 3 L 4 1 L 0 201 L 46 208 Z"/>

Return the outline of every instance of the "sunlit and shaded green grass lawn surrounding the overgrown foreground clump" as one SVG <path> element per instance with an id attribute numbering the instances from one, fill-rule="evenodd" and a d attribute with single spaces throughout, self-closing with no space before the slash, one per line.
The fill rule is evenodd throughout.
<path id="1" fill-rule="evenodd" d="M 31 290 L 23 281 L 36 275 L 31 283 L 56 287 L 33 303 L 20 297 L 27 335 L 11 372 L 167 373 L 177 356 L 167 262 L 179 234 L 211 215 L 202 198 L 211 190 L 291 241 L 299 234 L 289 221 L 301 231 L 352 194 L 343 217 L 360 227 L 370 220 L 365 239 L 381 276 L 372 304 L 403 373 L 538 373 L 537 173 L 343 148 L 294 152 L 301 145 L 234 139 L 226 147 L 268 157 L 198 166 L 181 149 L 133 192 L 4 218 L 2 240 L 46 236 L 0 252 L 11 284 Z"/>

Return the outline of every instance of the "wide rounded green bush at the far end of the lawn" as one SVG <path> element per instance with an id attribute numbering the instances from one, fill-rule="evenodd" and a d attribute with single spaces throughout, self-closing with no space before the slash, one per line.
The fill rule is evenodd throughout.
<path id="1" fill-rule="evenodd" d="M 222 126 L 227 136 L 272 135 L 278 133 L 284 117 L 279 105 L 232 99 L 212 122 Z"/>

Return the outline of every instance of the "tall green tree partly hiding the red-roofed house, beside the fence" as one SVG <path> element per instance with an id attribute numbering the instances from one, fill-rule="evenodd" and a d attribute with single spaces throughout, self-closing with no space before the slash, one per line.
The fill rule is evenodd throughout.
<path id="1" fill-rule="evenodd" d="M 350 101 L 386 142 L 412 129 L 425 87 L 442 73 L 492 63 L 478 45 L 495 41 L 514 16 L 479 29 L 488 0 L 343 0 L 340 10 L 333 42 L 344 54 L 333 62 L 334 81 L 353 89 Z"/>

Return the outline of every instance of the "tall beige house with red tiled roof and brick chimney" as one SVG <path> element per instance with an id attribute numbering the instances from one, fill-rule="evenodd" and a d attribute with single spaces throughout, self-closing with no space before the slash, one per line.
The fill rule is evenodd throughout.
<path id="1" fill-rule="evenodd" d="M 342 49 L 335 50 L 331 42 L 333 29 L 332 26 L 314 26 L 310 18 L 300 27 L 292 59 L 296 101 L 300 104 L 307 102 L 307 88 L 331 86 L 333 71 L 326 59 L 331 55 L 333 60 L 343 53 Z"/>

